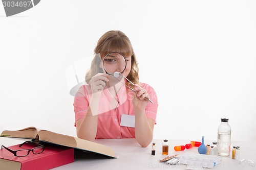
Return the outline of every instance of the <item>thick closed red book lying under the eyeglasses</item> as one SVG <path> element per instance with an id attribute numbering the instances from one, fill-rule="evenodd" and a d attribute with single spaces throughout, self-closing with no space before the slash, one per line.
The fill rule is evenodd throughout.
<path id="1" fill-rule="evenodd" d="M 34 147 L 36 146 L 34 145 L 32 147 L 31 144 L 24 144 L 22 147 L 19 147 L 19 144 L 17 144 L 7 148 L 15 151 L 20 149 L 32 149 Z M 16 157 L 5 148 L 0 150 L 0 169 L 3 169 L 3 167 L 15 169 L 14 167 L 20 166 L 20 168 L 17 169 L 47 170 L 72 162 L 74 162 L 74 149 L 57 145 L 45 145 L 44 152 L 33 154 L 32 151 L 30 151 L 29 155 L 24 157 Z"/>

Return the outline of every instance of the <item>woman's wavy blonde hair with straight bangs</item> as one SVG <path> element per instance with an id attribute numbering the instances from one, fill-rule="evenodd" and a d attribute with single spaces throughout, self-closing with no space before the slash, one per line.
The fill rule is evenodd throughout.
<path id="1" fill-rule="evenodd" d="M 103 34 L 94 49 L 95 57 L 92 60 L 91 68 L 86 73 L 86 82 L 89 84 L 93 76 L 103 72 L 100 62 L 110 52 L 121 53 L 124 57 L 132 58 L 131 71 L 127 76 L 131 82 L 139 83 L 139 67 L 133 51 L 130 39 L 121 31 L 108 31 Z M 100 54 L 100 55 L 98 55 Z"/>

